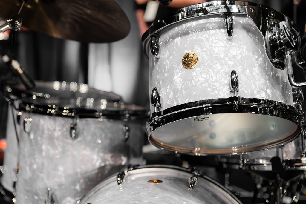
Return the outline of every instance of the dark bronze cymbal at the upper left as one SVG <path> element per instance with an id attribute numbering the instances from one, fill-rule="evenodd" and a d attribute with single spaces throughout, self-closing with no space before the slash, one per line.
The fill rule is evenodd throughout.
<path id="1" fill-rule="evenodd" d="M 0 17 L 18 13 L 19 0 L 1 0 Z M 109 43 L 124 38 L 130 24 L 113 0 L 28 0 L 22 26 L 56 38 Z"/>

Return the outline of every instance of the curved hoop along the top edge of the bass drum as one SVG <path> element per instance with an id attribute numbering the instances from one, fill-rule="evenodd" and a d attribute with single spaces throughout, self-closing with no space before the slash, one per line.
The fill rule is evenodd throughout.
<path id="1" fill-rule="evenodd" d="M 224 187 L 223 185 L 221 185 L 220 183 L 218 183 L 216 180 L 212 179 L 209 176 L 206 176 L 205 173 L 196 167 L 190 167 L 190 168 L 185 168 L 182 166 L 172 166 L 172 165 L 129 165 L 126 168 L 123 168 L 121 172 L 119 172 L 118 174 L 114 174 L 113 176 L 110 176 L 108 179 L 102 181 L 100 184 L 98 184 L 96 187 L 94 187 L 91 191 L 88 192 L 87 195 L 85 195 L 82 199 L 80 199 L 80 201 L 78 203 L 80 204 L 85 204 L 87 203 L 87 199 L 90 198 L 92 195 L 94 195 L 96 192 L 99 191 L 100 188 L 105 187 L 107 184 L 109 184 L 110 182 L 118 182 L 118 176 L 122 176 L 122 180 L 123 178 L 128 175 L 129 173 L 133 173 L 136 174 L 137 171 L 141 171 L 141 170 L 145 170 L 145 169 L 169 169 L 169 170 L 177 170 L 177 171 L 181 171 L 181 172 L 187 172 L 190 173 L 190 176 L 196 176 L 196 177 L 201 177 L 205 180 L 207 180 L 208 182 L 211 182 L 212 184 L 216 185 L 217 187 L 221 188 L 223 191 L 225 191 L 231 198 L 233 198 L 237 203 L 242 204 L 241 201 L 235 196 L 233 195 L 226 187 Z M 117 178 L 117 179 L 114 179 Z M 102 185 L 104 184 L 104 185 Z M 186 180 L 186 189 L 188 189 L 188 180 Z M 124 185 L 124 183 L 122 184 Z M 196 187 L 196 186 L 195 186 Z M 189 189 L 192 190 L 192 189 Z"/>

